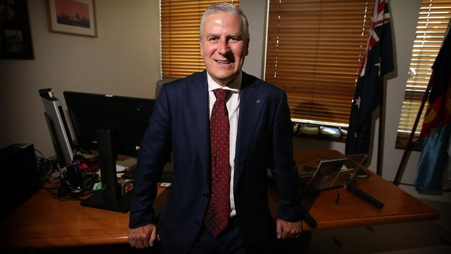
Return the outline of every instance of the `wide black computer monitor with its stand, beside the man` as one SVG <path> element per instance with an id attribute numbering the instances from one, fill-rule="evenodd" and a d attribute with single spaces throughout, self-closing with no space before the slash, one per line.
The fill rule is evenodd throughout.
<path id="1" fill-rule="evenodd" d="M 102 190 L 81 205 L 128 212 L 130 195 L 121 195 L 115 158 L 137 156 L 155 100 L 69 91 L 64 96 L 77 146 L 99 151 Z"/>

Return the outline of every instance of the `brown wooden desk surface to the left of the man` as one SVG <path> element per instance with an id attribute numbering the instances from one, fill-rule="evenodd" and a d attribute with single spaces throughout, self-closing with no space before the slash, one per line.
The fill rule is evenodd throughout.
<path id="1" fill-rule="evenodd" d="M 164 207 L 169 189 L 158 188 L 155 210 Z M 1 221 L 0 247 L 46 248 L 126 244 L 129 213 L 111 212 L 60 201 L 46 189 Z"/>

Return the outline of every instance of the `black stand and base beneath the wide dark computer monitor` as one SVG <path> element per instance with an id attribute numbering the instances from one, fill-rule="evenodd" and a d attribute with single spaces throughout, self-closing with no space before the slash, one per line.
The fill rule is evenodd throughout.
<path id="1" fill-rule="evenodd" d="M 117 185 L 115 137 L 114 130 L 97 130 L 102 189 L 82 201 L 81 205 L 114 212 L 128 212 L 130 210 L 130 194 L 122 196 L 121 188 Z"/>

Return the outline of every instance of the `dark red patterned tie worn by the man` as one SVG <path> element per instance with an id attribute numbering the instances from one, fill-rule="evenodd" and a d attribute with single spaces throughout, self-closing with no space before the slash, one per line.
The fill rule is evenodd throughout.
<path id="1" fill-rule="evenodd" d="M 229 119 L 226 97 L 230 90 L 213 90 L 216 101 L 210 117 L 212 149 L 212 198 L 205 215 L 205 227 L 214 237 L 226 228 L 230 207 Z"/>

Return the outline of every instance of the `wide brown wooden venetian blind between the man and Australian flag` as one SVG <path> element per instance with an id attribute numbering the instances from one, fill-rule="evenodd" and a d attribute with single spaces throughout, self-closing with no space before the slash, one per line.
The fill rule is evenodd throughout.
<path id="1" fill-rule="evenodd" d="M 347 126 L 374 1 L 271 0 L 265 78 L 293 121 Z"/>

